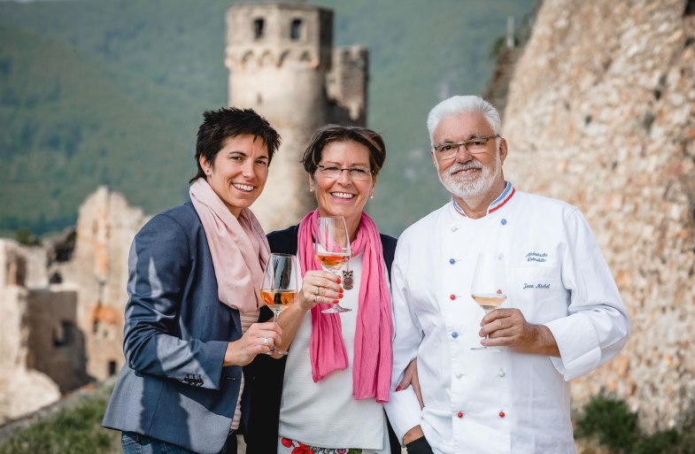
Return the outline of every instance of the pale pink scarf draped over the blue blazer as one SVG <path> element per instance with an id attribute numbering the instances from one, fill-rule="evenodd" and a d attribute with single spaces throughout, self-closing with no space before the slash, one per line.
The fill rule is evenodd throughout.
<path id="1" fill-rule="evenodd" d="M 263 227 L 247 208 L 237 219 L 205 178 L 190 185 L 189 195 L 210 246 L 220 302 L 243 313 L 258 310 L 263 270 L 270 258 Z"/>

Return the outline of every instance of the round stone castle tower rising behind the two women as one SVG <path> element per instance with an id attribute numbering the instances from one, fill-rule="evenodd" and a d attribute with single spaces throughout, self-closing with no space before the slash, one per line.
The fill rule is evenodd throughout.
<path id="1" fill-rule="evenodd" d="M 227 12 L 229 104 L 251 107 L 282 135 L 253 205 L 266 231 L 315 207 L 299 160 L 326 123 L 364 126 L 367 49 L 333 48 L 333 12 L 304 3 L 237 4 Z"/>

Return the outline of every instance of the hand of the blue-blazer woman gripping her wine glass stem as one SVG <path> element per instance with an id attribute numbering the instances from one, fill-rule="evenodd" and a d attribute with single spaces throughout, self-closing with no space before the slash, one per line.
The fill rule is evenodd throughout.
<path id="1" fill-rule="evenodd" d="M 227 344 L 222 366 L 246 366 L 259 353 L 267 353 L 282 343 L 282 328 L 273 321 L 254 323 L 242 338 Z"/>

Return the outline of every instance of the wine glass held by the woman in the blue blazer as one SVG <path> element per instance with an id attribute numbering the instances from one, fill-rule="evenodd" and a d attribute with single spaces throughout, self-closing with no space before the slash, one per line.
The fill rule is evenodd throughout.
<path id="1" fill-rule="evenodd" d="M 280 312 L 294 303 L 299 291 L 299 266 L 297 258 L 290 254 L 270 254 L 263 273 L 263 283 L 260 286 L 260 299 L 273 311 L 274 322 Z M 268 355 L 287 355 L 287 351 L 277 349 L 274 345 Z"/>

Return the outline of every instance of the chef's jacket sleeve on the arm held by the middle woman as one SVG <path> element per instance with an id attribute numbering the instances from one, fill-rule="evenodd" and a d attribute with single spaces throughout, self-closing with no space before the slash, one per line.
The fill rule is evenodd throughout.
<path id="1" fill-rule="evenodd" d="M 396 257 L 391 268 L 391 291 L 394 312 L 393 375 L 389 403 L 384 404 L 398 442 L 403 444 L 405 432 L 421 424 L 421 408 L 413 387 L 396 391 L 403 379 L 405 367 L 417 356 L 422 341 L 422 328 L 413 312 L 409 298 L 407 277 L 402 265 L 405 247 L 398 242 Z"/>

